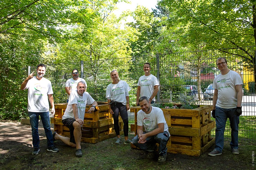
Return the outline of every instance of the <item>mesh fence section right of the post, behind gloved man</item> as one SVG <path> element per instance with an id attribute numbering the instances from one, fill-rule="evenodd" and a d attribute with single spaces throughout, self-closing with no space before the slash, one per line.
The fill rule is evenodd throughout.
<path id="1" fill-rule="evenodd" d="M 191 51 L 160 55 L 160 101 L 179 102 L 182 93 L 198 93 L 197 104 L 212 105 L 213 79 L 220 74 L 216 60 L 225 57 L 228 60 L 228 68 L 236 71 L 243 81 L 243 114 L 240 116 L 239 138 L 255 141 L 256 139 L 256 115 L 255 115 L 255 47 L 216 49 L 206 51 Z M 248 62 L 250 60 L 250 63 Z M 255 58 L 254 58 L 255 60 Z M 197 91 L 193 93 L 194 86 Z M 191 88 L 192 92 L 182 87 Z M 203 100 L 199 100 L 199 96 Z M 228 101 L 227 101 L 228 102 Z M 215 130 L 213 133 L 215 134 Z M 229 119 L 226 123 L 225 138 L 231 138 Z"/>

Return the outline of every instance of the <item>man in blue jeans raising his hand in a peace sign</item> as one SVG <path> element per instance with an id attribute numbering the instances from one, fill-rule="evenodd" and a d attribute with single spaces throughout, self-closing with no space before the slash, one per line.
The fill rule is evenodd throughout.
<path id="1" fill-rule="evenodd" d="M 37 155 L 39 149 L 39 133 L 38 133 L 38 121 L 39 116 L 43 123 L 45 135 L 47 138 L 47 151 L 58 152 L 53 144 L 53 135 L 50 127 L 50 115 L 49 115 L 49 102 L 52 105 L 52 113 L 55 113 L 54 101 L 53 101 L 53 90 L 52 83 L 44 78 L 46 66 L 44 64 L 38 64 L 36 67 L 36 76 L 32 72 L 21 84 L 21 89 L 28 89 L 28 116 L 30 119 L 32 129 L 32 143 L 34 151 L 32 155 Z"/>

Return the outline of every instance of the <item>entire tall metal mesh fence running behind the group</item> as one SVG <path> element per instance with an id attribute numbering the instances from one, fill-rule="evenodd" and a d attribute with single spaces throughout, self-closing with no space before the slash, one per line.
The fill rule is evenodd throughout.
<path id="1" fill-rule="evenodd" d="M 110 72 L 117 70 L 121 80 L 126 81 L 132 90 L 129 92 L 130 104 L 136 105 L 137 83 L 144 75 L 143 64 L 149 62 L 151 74 L 160 82 L 157 102 L 180 102 L 181 94 L 192 96 L 193 104 L 212 105 L 211 87 L 213 79 L 220 71 L 216 59 L 225 57 L 228 67 L 238 72 L 243 81 L 243 114 L 240 116 L 239 138 L 256 140 L 255 115 L 255 61 L 250 60 L 255 47 L 190 51 L 156 56 L 137 56 L 98 61 L 81 61 L 47 65 L 45 78 L 52 82 L 54 103 L 65 103 L 65 82 L 72 78 L 73 69 L 78 69 L 80 77 L 87 82 L 87 92 L 96 101 L 106 101 L 106 87 L 110 84 Z M 254 64 L 253 64 L 254 63 Z M 159 68 L 159 69 L 158 69 Z M 35 68 L 31 69 L 35 70 Z M 32 72 L 32 71 L 31 71 Z M 206 93 L 207 92 L 207 93 Z M 134 123 L 134 114 L 129 113 L 129 123 Z M 214 134 L 214 132 L 213 132 Z M 226 124 L 225 138 L 231 138 L 229 120 Z"/>

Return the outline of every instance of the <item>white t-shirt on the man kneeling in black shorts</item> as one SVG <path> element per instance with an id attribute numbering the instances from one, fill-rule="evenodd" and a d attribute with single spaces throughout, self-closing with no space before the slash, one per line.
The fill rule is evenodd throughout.
<path id="1" fill-rule="evenodd" d="M 67 104 L 67 108 L 64 112 L 64 115 L 62 116 L 62 120 L 67 118 L 75 119 L 72 104 L 77 104 L 78 118 L 84 119 L 86 104 L 88 103 L 89 105 L 91 105 L 93 104 L 93 102 L 94 102 L 94 99 L 92 98 L 91 95 L 89 95 L 88 92 L 84 92 L 83 96 L 80 96 L 78 95 L 77 90 L 73 90 L 70 93 L 69 102 Z"/>

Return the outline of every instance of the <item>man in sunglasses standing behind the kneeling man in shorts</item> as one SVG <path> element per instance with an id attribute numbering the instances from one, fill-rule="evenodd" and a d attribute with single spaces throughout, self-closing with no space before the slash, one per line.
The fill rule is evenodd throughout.
<path id="1" fill-rule="evenodd" d="M 85 79 L 79 77 L 79 73 L 77 69 L 72 70 L 72 76 L 73 78 L 70 78 L 65 83 L 65 91 L 67 93 L 67 103 L 69 102 L 69 95 L 72 90 L 76 90 L 78 82 L 84 82 L 85 83 L 85 91 L 87 89 L 87 83 Z"/>

